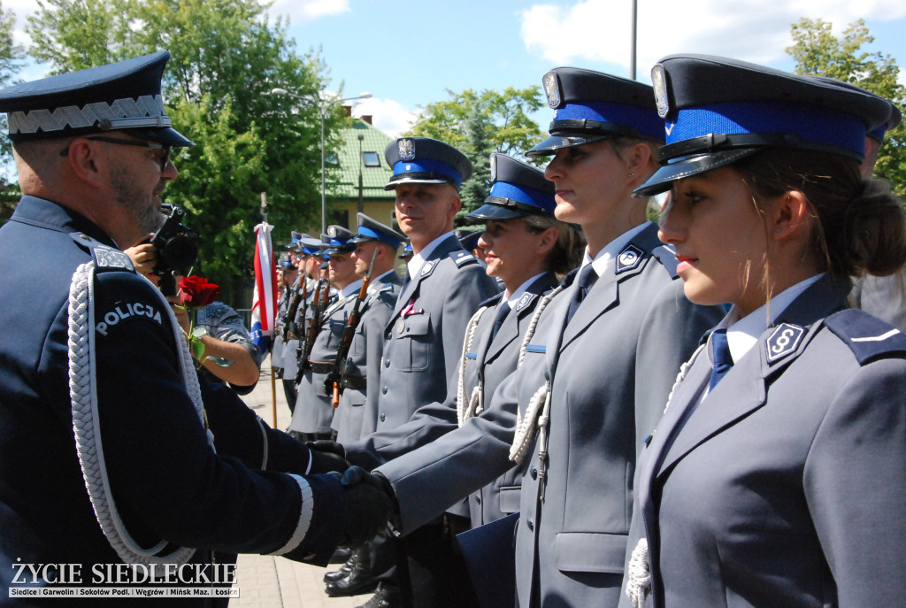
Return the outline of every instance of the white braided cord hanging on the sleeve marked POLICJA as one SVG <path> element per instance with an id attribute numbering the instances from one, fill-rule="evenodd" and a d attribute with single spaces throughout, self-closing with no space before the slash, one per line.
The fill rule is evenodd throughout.
<path id="1" fill-rule="evenodd" d="M 72 399 L 72 429 L 75 434 L 82 477 L 92 501 L 94 514 L 101 531 L 113 549 L 126 564 L 176 564 L 188 562 L 195 549 L 180 547 L 173 553 L 159 557 L 166 545 L 161 540 L 157 545 L 144 549 L 130 536 L 120 518 L 111 494 L 110 481 L 104 461 L 101 428 L 98 421 L 97 371 L 95 353 L 92 350 L 94 335 L 94 263 L 80 265 L 72 275 L 69 294 L 69 385 Z M 155 290 L 156 293 L 157 290 Z M 170 323 L 176 337 L 179 351 L 179 366 L 188 395 L 195 405 L 199 419 L 204 423 L 204 406 L 201 389 L 192 362 L 192 355 L 179 329 L 176 316 L 169 309 L 163 294 L 159 294 L 162 307 L 168 311 Z M 213 446 L 213 435 L 207 431 L 207 440 Z"/>

